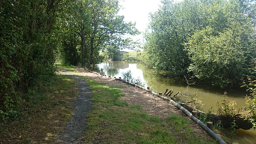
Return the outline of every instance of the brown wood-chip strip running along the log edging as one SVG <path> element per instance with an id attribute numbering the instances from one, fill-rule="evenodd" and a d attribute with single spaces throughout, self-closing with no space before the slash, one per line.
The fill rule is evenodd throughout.
<path id="1" fill-rule="evenodd" d="M 150 92 L 141 90 L 138 87 L 126 84 L 119 80 L 115 80 L 115 79 L 104 77 L 104 76 L 103 77 L 99 76 L 81 67 L 76 67 L 75 71 L 82 73 L 83 76 L 86 76 L 89 79 L 106 83 L 107 85 L 121 86 L 120 89 L 124 94 L 124 96 L 121 97 L 121 100 L 128 102 L 129 105 L 140 105 L 142 107 L 142 110 L 151 116 L 156 116 L 161 119 L 165 119 L 167 116 L 170 116 L 173 114 L 176 114 L 178 116 L 183 116 L 188 121 L 190 121 L 190 126 L 193 128 L 193 131 L 195 133 L 202 136 L 203 138 L 212 139 L 212 137 L 207 132 L 205 132 L 194 121 L 190 120 L 190 118 L 186 116 L 181 110 L 179 110 L 178 108 L 176 108 L 174 105 L 172 105 L 166 100 L 163 100 L 158 97 L 154 98 L 153 94 Z"/>

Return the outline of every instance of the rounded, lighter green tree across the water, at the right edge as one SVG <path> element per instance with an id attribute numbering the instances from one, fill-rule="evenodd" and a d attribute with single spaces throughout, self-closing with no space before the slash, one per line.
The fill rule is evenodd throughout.
<path id="1" fill-rule="evenodd" d="M 191 60 L 188 69 L 195 77 L 230 87 L 238 86 L 248 75 L 248 64 L 256 52 L 256 33 L 243 7 L 235 0 L 209 5 L 209 26 L 196 31 L 185 44 Z"/>

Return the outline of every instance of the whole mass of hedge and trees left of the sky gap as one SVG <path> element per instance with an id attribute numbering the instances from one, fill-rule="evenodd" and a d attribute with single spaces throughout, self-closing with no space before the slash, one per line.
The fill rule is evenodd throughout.
<path id="1" fill-rule="evenodd" d="M 47 84 L 56 61 L 89 68 L 108 45 L 132 48 L 124 35 L 139 32 L 119 8 L 118 0 L 0 0 L 0 121 L 37 99 L 24 93 Z"/>

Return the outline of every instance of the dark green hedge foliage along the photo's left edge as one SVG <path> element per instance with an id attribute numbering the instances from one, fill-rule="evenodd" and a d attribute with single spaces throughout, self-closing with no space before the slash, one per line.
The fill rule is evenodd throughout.
<path id="1" fill-rule="evenodd" d="M 55 73 L 57 11 L 67 3 L 53 1 L 1 1 L 0 121 L 17 118 L 20 93 Z"/>

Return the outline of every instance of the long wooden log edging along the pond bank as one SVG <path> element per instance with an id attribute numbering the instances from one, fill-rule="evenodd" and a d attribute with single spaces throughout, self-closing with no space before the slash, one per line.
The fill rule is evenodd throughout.
<path id="1" fill-rule="evenodd" d="M 81 67 L 82 68 L 82 67 Z M 92 72 L 92 73 L 95 73 L 97 75 L 100 75 L 99 73 L 97 72 L 93 72 L 93 71 L 90 71 L 86 68 L 84 68 L 85 70 L 89 71 L 89 72 Z M 102 76 L 102 75 L 100 75 Z M 112 77 L 110 77 L 112 78 Z M 159 98 L 162 98 L 164 100 L 167 100 L 167 101 L 170 101 L 176 108 L 179 108 L 181 111 L 183 111 L 190 119 L 192 119 L 194 122 L 196 122 L 196 124 L 200 125 L 206 132 L 208 132 L 210 134 L 210 136 L 215 139 L 215 140 L 218 140 L 220 142 L 220 144 L 227 144 L 224 140 L 222 140 L 215 132 L 213 132 L 210 128 L 208 128 L 203 122 L 201 122 L 199 119 L 197 119 L 195 116 L 193 116 L 186 108 L 182 107 L 180 104 L 178 104 L 177 102 L 169 99 L 169 98 L 166 98 L 162 95 L 159 95 L 157 94 L 156 92 L 153 92 L 151 90 L 148 90 L 140 85 L 137 85 L 137 84 L 133 84 L 133 83 L 130 83 L 130 82 L 126 82 L 125 80 L 123 79 L 120 79 L 120 78 L 112 78 L 112 79 L 116 79 L 116 80 L 120 80 L 126 84 L 130 84 L 132 86 L 136 86 L 136 87 L 139 87 L 140 89 L 143 89 L 145 91 L 148 91 L 152 94 L 154 94 L 155 96 L 159 97 Z"/>

